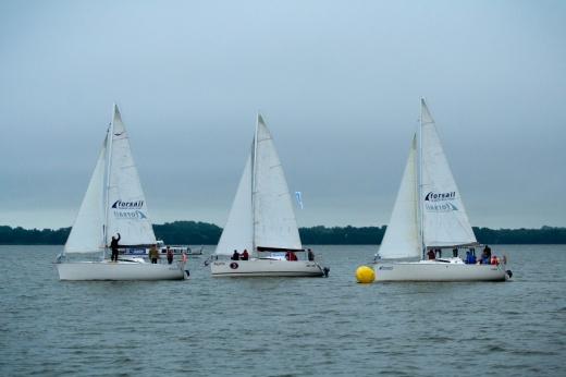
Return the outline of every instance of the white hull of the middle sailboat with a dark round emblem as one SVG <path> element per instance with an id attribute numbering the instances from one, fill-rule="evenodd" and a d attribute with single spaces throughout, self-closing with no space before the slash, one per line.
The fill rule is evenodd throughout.
<path id="1" fill-rule="evenodd" d="M 315 262 L 307 260 L 213 260 L 213 277 L 322 277 L 324 271 Z"/>

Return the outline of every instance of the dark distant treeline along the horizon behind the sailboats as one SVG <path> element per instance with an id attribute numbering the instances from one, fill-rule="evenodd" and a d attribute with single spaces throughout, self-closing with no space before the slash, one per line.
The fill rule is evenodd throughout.
<path id="1" fill-rule="evenodd" d="M 386 227 L 311 227 L 300 228 L 300 239 L 310 245 L 371 245 L 379 244 Z M 174 221 L 153 226 L 158 240 L 168 244 L 218 243 L 222 228 L 208 222 Z M 23 229 L 0 226 L 0 244 L 3 245 L 62 245 L 71 228 Z M 566 244 L 566 228 L 489 229 L 473 228 L 480 243 L 487 244 Z"/>

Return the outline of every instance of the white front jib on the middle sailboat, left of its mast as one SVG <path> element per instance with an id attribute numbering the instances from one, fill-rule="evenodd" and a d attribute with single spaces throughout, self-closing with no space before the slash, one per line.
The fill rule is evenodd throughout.
<path id="1" fill-rule="evenodd" d="M 226 226 L 217 245 L 216 254 L 232 255 L 234 250 L 242 253 L 254 248 L 254 219 L 251 214 L 251 156 L 249 154 L 244 173 L 239 179 L 236 196 L 232 203 Z"/>

